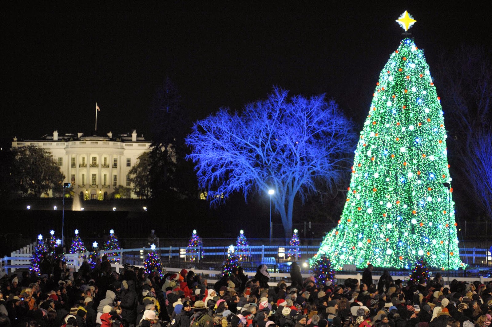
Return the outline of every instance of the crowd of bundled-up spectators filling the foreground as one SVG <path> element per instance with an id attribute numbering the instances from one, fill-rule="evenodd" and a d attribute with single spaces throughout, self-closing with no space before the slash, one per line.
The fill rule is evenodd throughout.
<path id="1" fill-rule="evenodd" d="M 48 260 L 49 261 L 49 260 Z M 291 283 L 272 282 L 261 265 L 252 278 L 233 269 L 213 285 L 191 270 L 147 274 L 126 264 L 113 272 L 107 256 L 94 269 L 71 272 L 61 260 L 38 274 L 0 278 L 0 327 L 489 327 L 492 281 L 440 274 L 403 283 L 385 271 L 374 282 L 319 284 L 291 266 Z M 270 284 L 270 285 L 269 285 Z M 492 326 L 491 326 L 492 327 Z"/>

